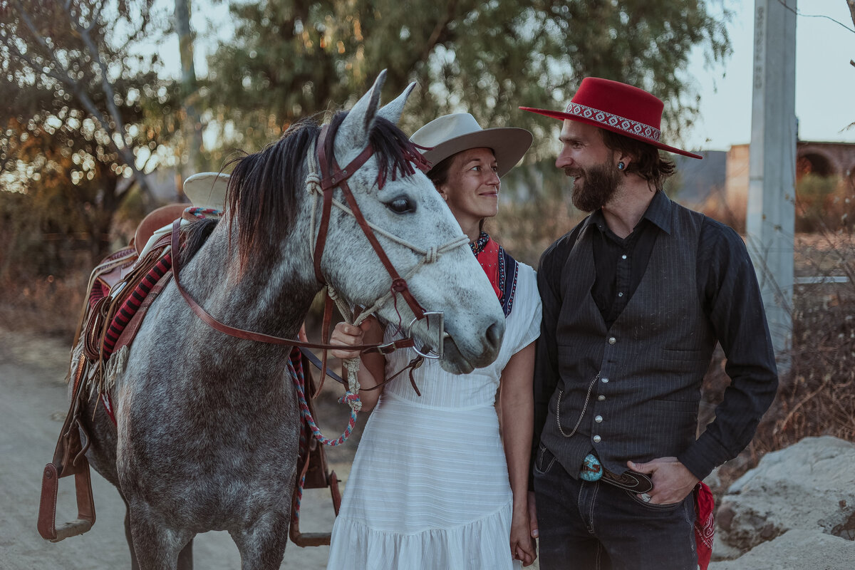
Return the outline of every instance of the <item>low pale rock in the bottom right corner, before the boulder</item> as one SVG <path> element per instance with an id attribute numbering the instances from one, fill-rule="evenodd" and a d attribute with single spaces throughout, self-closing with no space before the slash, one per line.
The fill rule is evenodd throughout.
<path id="1" fill-rule="evenodd" d="M 794 529 L 736 560 L 711 562 L 709 570 L 852 570 L 855 542 L 819 529 Z"/>

